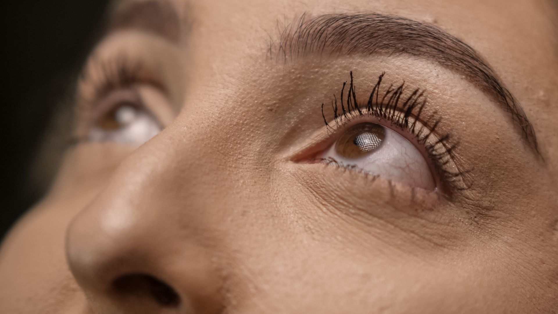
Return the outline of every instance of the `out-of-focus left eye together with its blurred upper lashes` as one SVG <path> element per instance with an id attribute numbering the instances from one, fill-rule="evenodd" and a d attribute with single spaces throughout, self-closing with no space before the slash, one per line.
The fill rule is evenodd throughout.
<path id="1" fill-rule="evenodd" d="M 106 60 L 105 60 L 106 59 Z M 79 137 L 143 144 L 174 120 L 161 68 L 126 54 L 92 56 L 79 84 Z"/>

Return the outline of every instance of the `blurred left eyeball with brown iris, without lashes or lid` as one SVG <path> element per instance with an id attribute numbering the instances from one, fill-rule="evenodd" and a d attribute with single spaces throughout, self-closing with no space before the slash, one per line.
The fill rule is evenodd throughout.
<path id="1" fill-rule="evenodd" d="M 90 141 L 143 144 L 162 129 L 134 89 L 110 93 L 98 108 L 89 129 Z"/>

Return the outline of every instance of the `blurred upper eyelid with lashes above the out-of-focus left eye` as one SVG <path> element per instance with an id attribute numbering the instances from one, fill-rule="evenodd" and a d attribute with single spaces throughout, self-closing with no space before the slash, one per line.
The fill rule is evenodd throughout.
<path id="1" fill-rule="evenodd" d="M 157 36 L 137 31 L 113 33 L 97 45 L 86 61 L 76 100 L 92 102 L 114 88 L 145 83 L 165 93 L 179 112 L 185 82 L 181 55 L 179 47 Z"/>

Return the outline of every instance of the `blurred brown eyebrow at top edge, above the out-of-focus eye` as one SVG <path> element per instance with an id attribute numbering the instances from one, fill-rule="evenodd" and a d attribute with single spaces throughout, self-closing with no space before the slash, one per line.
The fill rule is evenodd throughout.
<path id="1" fill-rule="evenodd" d="M 110 14 L 108 31 L 136 29 L 178 42 L 185 25 L 179 9 L 170 0 L 118 2 Z"/>

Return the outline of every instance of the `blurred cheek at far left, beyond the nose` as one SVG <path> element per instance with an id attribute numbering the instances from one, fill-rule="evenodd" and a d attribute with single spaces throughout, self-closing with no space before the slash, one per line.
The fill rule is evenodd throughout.
<path id="1" fill-rule="evenodd" d="M 66 229 L 132 150 L 124 145 L 80 144 L 69 151 L 49 194 L 2 243 L 0 282 L 9 289 L 0 289 L 0 312 L 83 311 L 85 297 L 66 263 Z"/>

